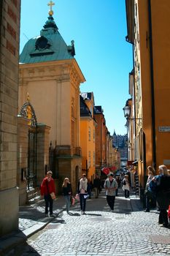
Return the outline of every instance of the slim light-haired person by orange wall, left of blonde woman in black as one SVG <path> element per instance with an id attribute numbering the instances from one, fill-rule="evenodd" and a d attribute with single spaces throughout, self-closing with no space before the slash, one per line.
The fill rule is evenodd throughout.
<path id="1" fill-rule="evenodd" d="M 148 166 L 147 171 L 148 171 L 148 178 L 147 178 L 147 184 L 144 190 L 144 194 L 146 197 L 146 209 L 144 210 L 144 212 L 150 212 L 150 201 L 153 198 L 152 197 L 153 193 L 150 192 L 149 185 L 150 185 L 150 181 L 152 181 L 152 178 L 155 176 L 155 170 L 152 168 L 152 166 Z"/>

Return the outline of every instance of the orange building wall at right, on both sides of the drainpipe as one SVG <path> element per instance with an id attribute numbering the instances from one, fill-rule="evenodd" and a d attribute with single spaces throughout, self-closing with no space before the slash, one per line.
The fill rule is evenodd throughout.
<path id="1" fill-rule="evenodd" d="M 142 77 L 142 112 L 143 130 L 146 136 L 146 165 L 152 165 L 152 109 L 150 78 L 150 30 L 147 1 L 139 4 L 139 34 Z M 155 97 L 155 140 L 156 167 L 163 163 L 170 164 L 170 133 L 159 132 L 159 127 L 170 127 L 169 95 L 170 95 L 170 34 L 169 17 L 170 2 L 164 0 L 151 1 L 152 12 L 152 55 Z M 166 161 L 168 160 L 168 161 Z"/>

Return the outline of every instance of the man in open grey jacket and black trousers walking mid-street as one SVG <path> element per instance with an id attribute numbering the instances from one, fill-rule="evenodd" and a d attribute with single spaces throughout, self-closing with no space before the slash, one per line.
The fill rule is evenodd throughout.
<path id="1" fill-rule="evenodd" d="M 115 191 L 117 187 L 118 185 L 115 178 L 113 177 L 113 173 L 109 173 L 108 178 L 104 182 L 104 188 L 106 189 L 107 203 L 111 211 L 114 211 L 115 195 L 116 195 Z"/>

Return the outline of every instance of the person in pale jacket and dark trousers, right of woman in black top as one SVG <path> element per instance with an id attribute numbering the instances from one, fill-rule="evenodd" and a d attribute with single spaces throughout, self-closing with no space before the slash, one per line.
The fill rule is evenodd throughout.
<path id="1" fill-rule="evenodd" d="M 82 174 L 82 178 L 80 178 L 80 185 L 79 185 L 81 214 L 85 214 L 86 199 L 88 196 L 87 189 L 88 189 L 88 179 L 86 178 L 85 174 Z"/>

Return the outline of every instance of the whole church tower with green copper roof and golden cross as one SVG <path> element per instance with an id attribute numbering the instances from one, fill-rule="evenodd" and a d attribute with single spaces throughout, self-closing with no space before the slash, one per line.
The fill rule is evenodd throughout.
<path id="1" fill-rule="evenodd" d="M 40 35 L 29 39 L 20 54 L 19 111 L 28 93 L 37 125 L 50 127 L 48 168 L 57 179 L 71 178 L 75 188 L 82 162 L 80 83 L 85 78 L 74 59 L 74 41 L 66 45 L 53 18 L 53 1 L 48 5 L 49 17 Z"/>

